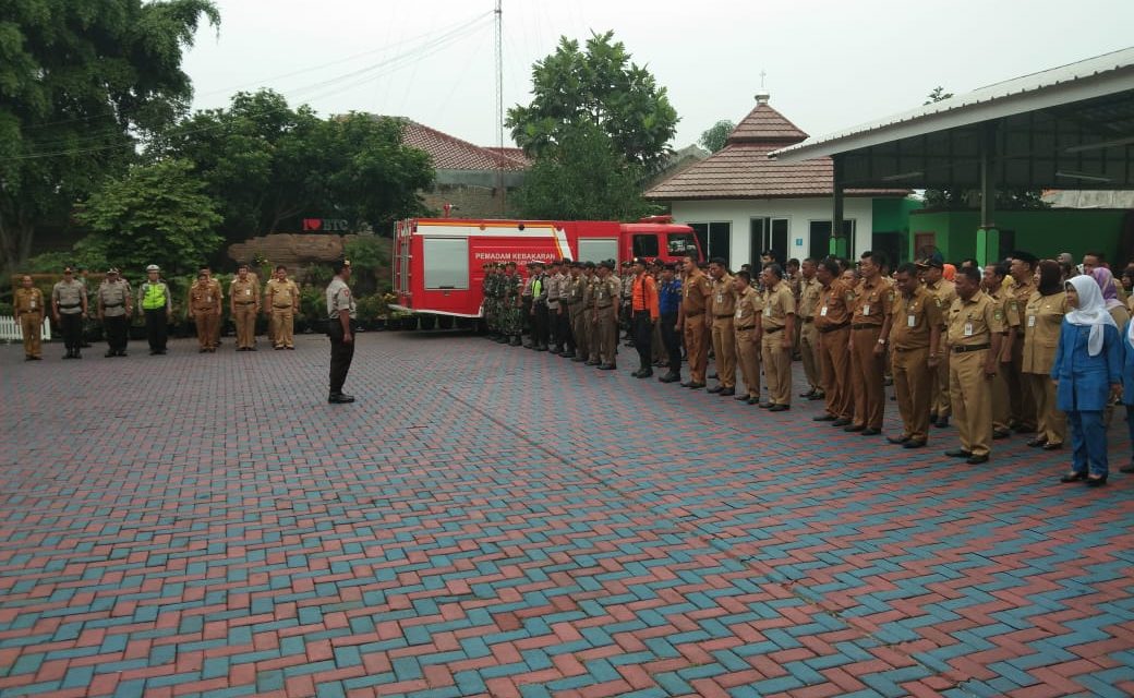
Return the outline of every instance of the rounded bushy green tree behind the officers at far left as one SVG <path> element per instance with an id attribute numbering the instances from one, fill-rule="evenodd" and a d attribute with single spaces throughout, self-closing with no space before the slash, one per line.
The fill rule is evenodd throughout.
<path id="1" fill-rule="evenodd" d="M 221 217 L 186 160 L 135 165 L 108 179 L 76 218 L 94 232 L 107 260 L 137 272 L 158 264 L 167 274 L 205 262 L 223 242 Z"/>

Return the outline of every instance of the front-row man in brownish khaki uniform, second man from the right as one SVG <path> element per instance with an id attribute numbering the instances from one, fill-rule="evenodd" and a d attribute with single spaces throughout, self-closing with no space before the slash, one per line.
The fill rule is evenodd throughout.
<path id="1" fill-rule="evenodd" d="M 945 311 L 937 296 L 922 286 L 915 264 L 902 264 L 896 277 L 898 296 L 894 302 L 889 339 L 902 436 L 886 440 L 906 448 L 921 448 L 929 440 L 931 390 L 933 372 L 941 359 Z"/>

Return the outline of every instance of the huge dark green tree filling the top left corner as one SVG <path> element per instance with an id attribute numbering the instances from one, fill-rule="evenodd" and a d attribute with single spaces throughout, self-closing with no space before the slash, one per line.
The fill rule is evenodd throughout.
<path id="1" fill-rule="evenodd" d="M 187 109 L 181 56 L 211 0 L 6 0 L 0 11 L 0 267 L 125 170 Z"/>

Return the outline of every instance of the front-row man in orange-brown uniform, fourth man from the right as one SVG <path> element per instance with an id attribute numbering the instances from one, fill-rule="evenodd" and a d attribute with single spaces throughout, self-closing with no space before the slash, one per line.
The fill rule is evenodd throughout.
<path id="1" fill-rule="evenodd" d="M 819 368 L 823 377 L 826 411 L 814 418 L 816 422 L 831 422 L 833 427 L 850 423 L 854 395 L 850 392 L 850 304 L 854 291 L 844 280 L 843 271 L 833 259 L 824 259 L 815 269 L 821 293 L 815 305 L 815 331 L 819 333 Z"/>

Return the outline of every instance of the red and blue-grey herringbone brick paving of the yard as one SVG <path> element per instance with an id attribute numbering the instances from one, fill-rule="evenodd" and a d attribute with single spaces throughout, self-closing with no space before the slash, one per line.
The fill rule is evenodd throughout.
<path id="1" fill-rule="evenodd" d="M 445 334 L 329 406 L 297 345 L 0 347 L 0 695 L 1134 693 L 1129 476 Z"/>

